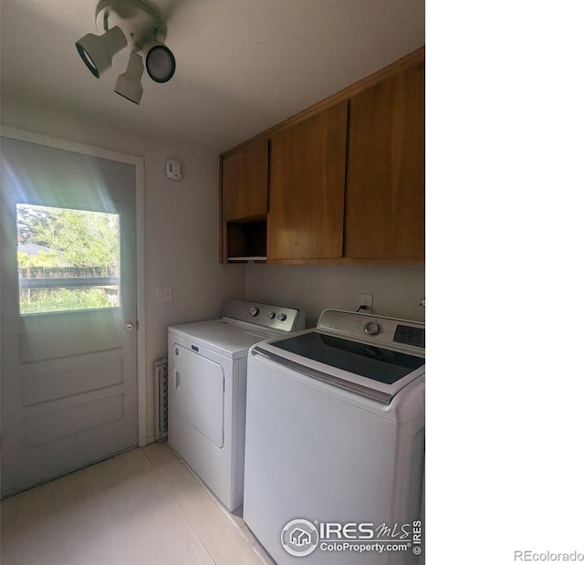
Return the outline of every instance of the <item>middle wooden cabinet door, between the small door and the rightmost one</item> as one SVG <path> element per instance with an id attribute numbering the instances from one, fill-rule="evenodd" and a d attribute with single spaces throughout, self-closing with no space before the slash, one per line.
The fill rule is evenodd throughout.
<path id="1" fill-rule="evenodd" d="M 267 258 L 342 256 L 347 101 L 272 137 Z"/>

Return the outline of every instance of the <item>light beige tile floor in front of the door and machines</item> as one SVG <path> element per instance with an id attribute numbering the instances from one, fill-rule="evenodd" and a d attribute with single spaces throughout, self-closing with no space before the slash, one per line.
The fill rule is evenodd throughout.
<path id="1" fill-rule="evenodd" d="M 164 443 L 1 504 L 2 565 L 272 565 Z"/>

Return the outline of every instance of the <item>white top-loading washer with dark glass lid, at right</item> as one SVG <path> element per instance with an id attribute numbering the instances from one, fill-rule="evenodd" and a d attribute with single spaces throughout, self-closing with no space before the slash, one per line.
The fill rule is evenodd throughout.
<path id="1" fill-rule="evenodd" d="M 244 519 L 279 565 L 423 562 L 424 332 L 325 310 L 250 350 Z"/>

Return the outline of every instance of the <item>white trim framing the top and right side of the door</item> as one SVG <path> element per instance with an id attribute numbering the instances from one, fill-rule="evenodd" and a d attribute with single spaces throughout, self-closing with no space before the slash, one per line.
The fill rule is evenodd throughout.
<path id="1" fill-rule="evenodd" d="M 28 141 L 37 145 L 46 145 L 68 152 L 82 153 L 92 157 L 101 157 L 110 161 L 132 164 L 136 167 L 136 316 L 138 321 L 138 445 L 146 445 L 147 402 L 146 383 L 148 371 L 146 367 L 146 277 L 144 265 L 144 159 L 138 155 L 130 155 L 103 149 L 77 141 L 68 141 L 51 137 L 34 131 L 19 130 L 11 126 L 2 126 L 2 137 L 17 141 Z"/>

